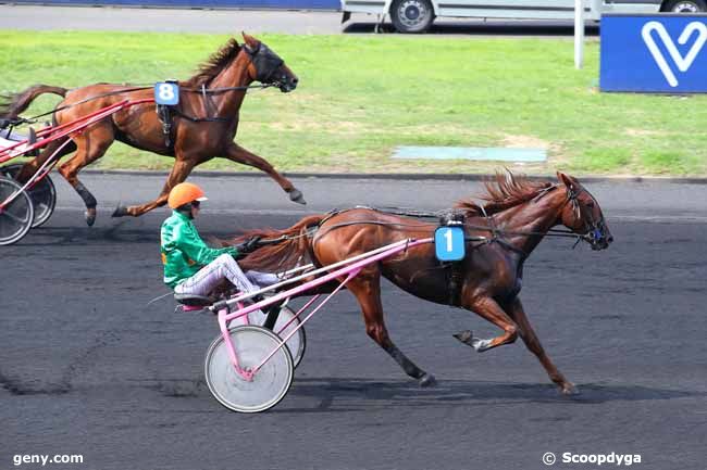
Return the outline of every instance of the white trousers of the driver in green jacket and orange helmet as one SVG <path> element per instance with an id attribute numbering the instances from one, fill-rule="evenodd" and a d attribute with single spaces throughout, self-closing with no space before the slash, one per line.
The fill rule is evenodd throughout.
<path id="1" fill-rule="evenodd" d="M 185 279 L 174 288 L 177 294 L 209 295 L 224 279 L 234 284 L 239 292 L 250 293 L 277 283 L 280 279 L 269 272 L 244 272 L 238 263 L 227 253 L 222 254 L 199 272 Z"/>

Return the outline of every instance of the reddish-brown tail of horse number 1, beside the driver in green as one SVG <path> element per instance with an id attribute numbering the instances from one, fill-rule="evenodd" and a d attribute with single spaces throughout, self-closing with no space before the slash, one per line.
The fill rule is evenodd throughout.
<path id="1" fill-rule="evenodd" d="M 266 272 L 282 272 L 296 266 L 311 263 L 309 229 L 319 226 L 325 217 L 326 215 L 305 217 L 285 230 L 250 230 L 240 237 L 223 241 L 222 244 L 234 245 L 256 236 L 262 240 L 283 239 L 277 243 L 259 247 L 238 262 L 246 270 L 256 269 Z"/>

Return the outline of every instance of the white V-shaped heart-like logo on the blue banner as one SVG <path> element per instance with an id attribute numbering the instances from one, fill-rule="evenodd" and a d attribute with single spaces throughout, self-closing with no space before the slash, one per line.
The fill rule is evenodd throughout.
<path id="1" fill-rule="evenodd" d="M 648 47 L 650 54 L 653 54 L 653 59 L 656 61 L 656 64 L 660 68 L 660 72 L 662 72 L 666 80 L 668 80 L 668 84 L 673 88 L 680 84 L 671 65 L 668 63 L 663 51 L 658 47 L 656 37 L 662 42 L 665 50 L 669 54 L 669 59 L 672 60 L 672 64 L 678 68 L 678 71 L 685 73 L 690 69 L 693 62 L 695 62 L 695 59 L 702 51 L 705 42 L 707 42 L 707 25 L 702 22 L 692 22 L 687 24 L 678 38 L 678 43 L 683 46 L 683 49 L 685 49 L 684 46 L 687 43 L 690 38 L 693 37 L 693 33 L 697 33 L 697 38 L 690 50 L 686 51 L 686 55 L 682 55 L 661 23 L 648 22 L 643 26 L 643 30 L 641 31 L 643 41 Z"/>

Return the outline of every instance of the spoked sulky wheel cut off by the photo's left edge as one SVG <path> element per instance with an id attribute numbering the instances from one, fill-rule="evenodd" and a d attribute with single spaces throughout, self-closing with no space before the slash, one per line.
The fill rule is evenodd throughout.
<path id="1" fill-rule="evenodd" d="M 22 187 L 11 178 L 0 176 L 0 203 L 17 193 Z M 4 209 L 0 209 L 0 245 L 16 243 L 27 234 L 35 219 L 35 209 L 26 192 L 20 192 Z"/>

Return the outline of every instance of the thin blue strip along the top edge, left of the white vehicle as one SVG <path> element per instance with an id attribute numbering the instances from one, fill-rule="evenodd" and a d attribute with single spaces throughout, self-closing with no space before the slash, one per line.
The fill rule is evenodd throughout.
<path id="1" fill-rule="evenodd" d="M 286 9 L 286 10 L 340 10 L 339 0 L 13 0 L 12 3 L 41 3 L 53 5 L 110 5 L 160 7 L 204 9 Z"/>

